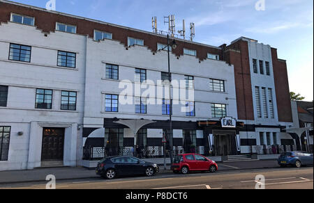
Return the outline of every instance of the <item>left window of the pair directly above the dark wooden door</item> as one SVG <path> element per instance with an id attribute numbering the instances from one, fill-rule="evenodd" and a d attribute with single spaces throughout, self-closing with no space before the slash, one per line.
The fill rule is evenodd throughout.
<path id="1" fill-rule="evenodd" d="M 52 90 L 36 90 L 35 108 L 52 109 Z"/>

